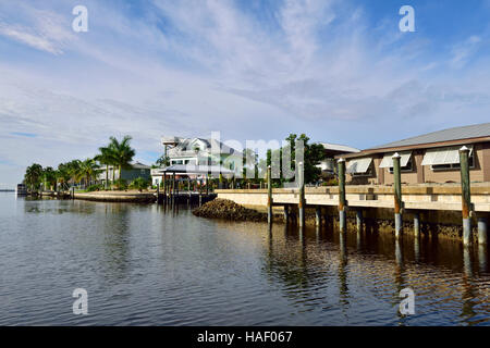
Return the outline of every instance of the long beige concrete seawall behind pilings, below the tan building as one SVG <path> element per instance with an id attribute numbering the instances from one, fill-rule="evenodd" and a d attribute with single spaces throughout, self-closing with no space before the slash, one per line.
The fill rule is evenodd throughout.
<path id="1" fill-rule="evenodd" d="M 247 208 L 266 211 L 267 189 L 222 189 L 216 190 L 218 198 L 230 199 Z M 402 187 L 405 209 L 403 212 L 403 232 L 414 233 L 414 215 L 420 216 L 421 234 L 461 239 L 462 199 L 460 185 L 414 185 Z M 272 190 L 274 214 L 281 213 L 284 204 L 296 209 L 297 189 L 278 188 Z M 339 223 L 339 188 L 307 187 L 306 223 L 315 224 L 315 209 L 320 207 L 322 224 Z M 393 233 L 394 197 L 391 186 L 346 186 L 347 224 L 356 229 L 356 211 L 363 211 L 363 228 Z M 490 184 L 471 184 L 474 235 L 478 217 L 490 217 Z"/>

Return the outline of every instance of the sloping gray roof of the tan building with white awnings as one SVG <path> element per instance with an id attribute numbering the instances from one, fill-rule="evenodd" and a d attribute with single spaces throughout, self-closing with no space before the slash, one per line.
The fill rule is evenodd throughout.
<path id="1" fill-rule="evenodd" d="M 450 141 L 450 140 L 463 140 L 469 138 L 480 138 L 480 137 L 489 137 L 490 136 L 490 123 L 481 123 L 474 124 L 470 126 L 463 127 L 454 127 L 438 132 L 432 132 L 424 135 L 419 135 L 416 137 L 388 142 L 384 145 L 376 146 L 371 149 L 383 149 L 383 148 L 396 148 L 402 146 L 412 146 L 419 144 L 431 144 L 431 142 L 440 142 L 440 141 Z"/>

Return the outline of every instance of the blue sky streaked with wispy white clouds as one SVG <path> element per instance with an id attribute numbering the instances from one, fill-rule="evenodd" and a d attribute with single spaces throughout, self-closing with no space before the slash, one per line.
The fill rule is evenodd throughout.
<path id="1" fill-rule="evenodd" d="M 111 135 L 151 163 L 162 135 L 367 148 L 489 122 L 489 0 L 1 0 L 0 187 Z"/>

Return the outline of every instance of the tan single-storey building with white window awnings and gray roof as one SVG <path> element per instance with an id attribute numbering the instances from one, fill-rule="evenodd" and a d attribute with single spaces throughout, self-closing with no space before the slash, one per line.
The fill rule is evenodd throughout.
<path id="1" fill-rule="evenodd" d="M 402 183 L 460 183 L 462 146 L 470 149 L 471 182 L 490 182 L 490 123 L 432 132 L 335 158 L 346 160 L 351 184 L 393 184 L 395 152 L 401 156 Z"/>

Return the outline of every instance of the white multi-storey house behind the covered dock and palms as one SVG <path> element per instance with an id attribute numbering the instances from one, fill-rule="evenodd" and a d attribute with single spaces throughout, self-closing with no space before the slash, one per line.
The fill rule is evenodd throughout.
<path id="1" fill-rule="evenodd" d="M 170 165 L 191 165 L 200 167 L 221 167 L 223 171 L 236 172 L 241 169 L 243 153 L 216 139 L 163 137 L 161 144 L 164 147 L 164 156 Z M 221 172 L 223 172 L 221 171 Z M 199 174 L 199 173 L 193 173 Z M 151 182 L 154 185 L 161 183 L 163 171 L 154 169 Z M 197 176 L 193 175 L 193 178 Z M 204 176 L 200 173 L 200 176 Z"/>

